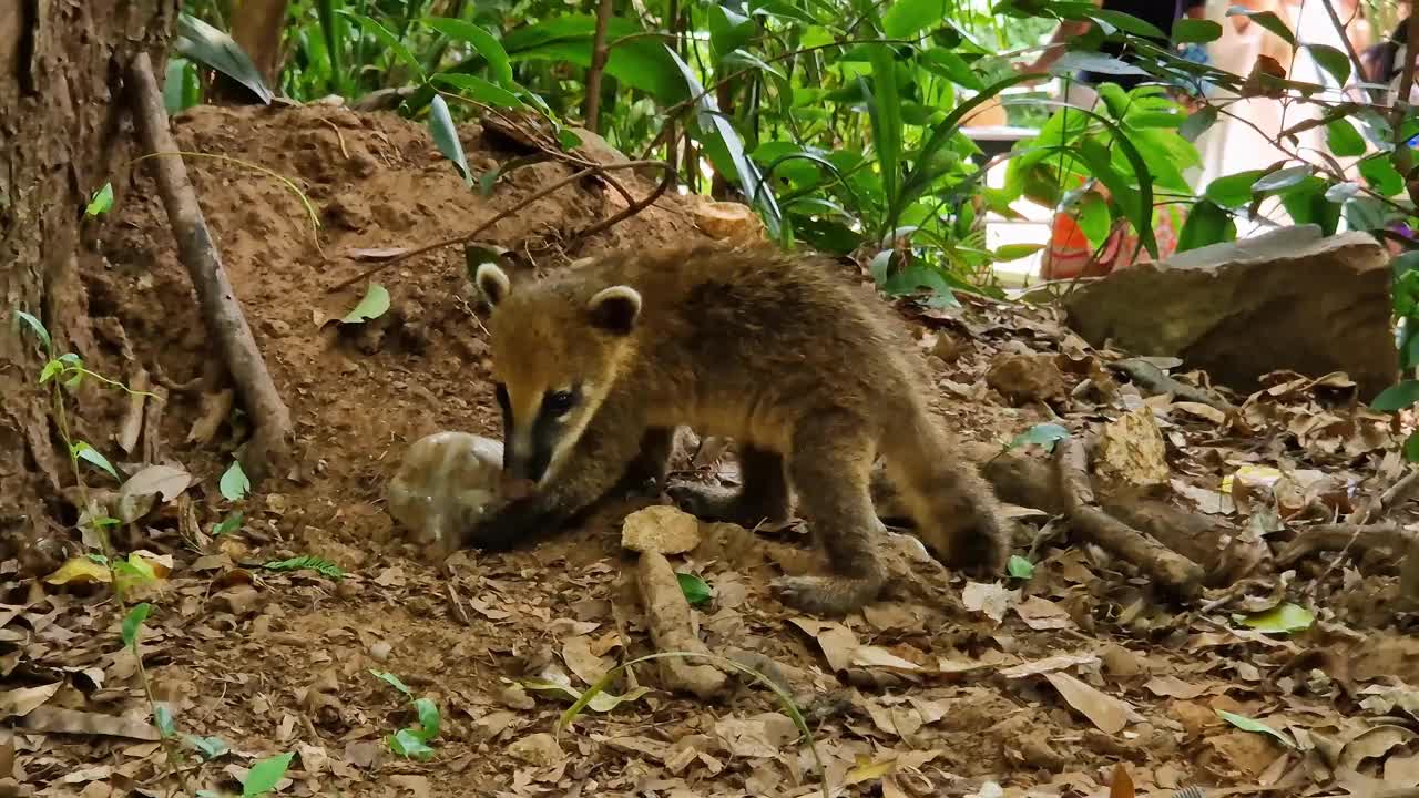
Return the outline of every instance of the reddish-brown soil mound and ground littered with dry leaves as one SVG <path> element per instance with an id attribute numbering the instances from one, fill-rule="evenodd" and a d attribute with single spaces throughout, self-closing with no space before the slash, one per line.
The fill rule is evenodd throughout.
<path id="1" fill-rule="evenodd" d="M 226 160 L 190 162 L 305 453 L 291 480 L 234 505 L 217 481 L 244 422 L 220 412 L 228 386 L 209 373 L 193 294 L 150 180 L 119 186 L 116 216 L 98 230 L 104 258 L 82 267 L 95 322 L 92 342 L 77 335 L 77 345 L 114 376 L 142 364 L 170 388 L 160 434 L 145 433 L 145 446 L 199 480 L 189 498 L 118 534 L 125 545 L 173 557 L 162 584 L 143 588 L 155 605 L 142 640 L 155 697 L 170 704 L 180 731 L 219 737 L 233 750 L 206 764 L 189 755 L 186 794 L 234 789 L 253 758 L 281 751 L 298 754 L 282 789 L 289 795 L 817 791 L 813 755 L 793 745 L 792 723 L 758 686 L 739 686 L 722 701 L 654 689 L 637 696 L 636 684 L 657 686 L 656 672 L 640 666 L 634 683 L 612 687 L 633 699 L 587 711 L 559 743 L 545 737 L 570 699 L 526 683 L 580 690 L 616 662 L 650 653 L 631 559 L 619 545 L 620 520 L 634 504 L 613 503 L 585 528 L 531 551 L 458 554 L 447 571 L 406 557 L 382 510 L 385 483 L 417 437 L 441 429 L 498 434 L 485 332 L 455 248 L 377 277 L 393 298 L 377 322 L 322 327 L 362 290 L 326 294 L 360 268 L 338 256 L 471 230 L 566 170 L 519 169 L 484 199 L 421 128 L 329 106 L 199 108 L 176 132 L 186 151 L 295 179 L 319 209 L 328 256 L 280 182 Z M 478 173 L 518 155 L 475 129 L 464 146 Z M 644 195 L 650 182 L 629 179 L 627 187 Z M 620 207 L 609 189 L 580 186 L 499 223 L 488 240 L 558 268 L 610 247 L 700 234 L 691 206 L 667 197 L 566 250 L 572 233 Z M 1110 419 L 1152 419 L 1154 427 L 1137 422 L 1144 432 L 1132 422 L 1105 427 L 1124 452 L 1108 466 L 1124 481 L 1161 466 L 1152 481 L 1200 518 L 1203 559 L 1215 571 L 1235 565 L 1223 552 L 1243 541 L 1250 559 L 1227 582 L 1253 581 L 1230 594 L 1216 585 L 1186 606 L 1168 603 L 1128 564 L 1069 545 L 1059 524 L 1025 508 L 1017 554 L 1034 562 L 1033 576 L 955 579 L 932 602 L 898 586 L 843 623 L 797 616 L 766 592 L 785 545 L 691 555 L 678 568 L 714 591 L 698 611 L 701 638 L 711 650 L 776 663 L 815 724 L 834 791 L 985 797 L 1000 795 L 982 787 L 996 781 L 1005 795 L 1107 795 L 1120 764 L 1144 795 L 1188 784 L 1280 782 L 1283 795 L 1375 795 L 1381 778 L 1386 788 L 1419 785 L 1419 694 L 1406 687 L 1419 684 L 1419 645 L 1406 635 L 1413 616 L 1403 612 L 1398 557 L 1381 554 L 1362 567 L 1334 554 L 1294 569 L 1271 562 L 1297 528 L 1348 513 L 1401 474 L 1386 453 L 1388 422 L 1357 412 L 1342 379 L 1279 378 L 1277 388 L 1223 416 L 1166 398 L 1145 402 L 1101 369 L 1107 356 L 1046 311 L 982 301 L 962 312 L 910 315 L 921 345 L 938 355 L 941 409 L 968 440 L 999 446 L 1051 420 L 1078 433 Z M 1005 369 L 988 381 L 1002 358 L 1039 352 L 1049 356 L 1016 369 L 1025 378 Z M 116 454 L 128 400 L 91 386 L 79 406 L 79 434 Z M 203 419 L 207 429 L 192 434 Z M 1161 429 L 1156 444 L 1148 429 Z M 700 476 L 725 466 L 698 463 Z M 1244 466 L 1281 474 L 1253 480 L 1263 487 L 1249 487 L 1247 497 L 1219 493 L 1223 477 Z M 727 479 L 732 473 L 724 469 Z M 233 510 L 244 514 L 240 530 L 214 540 L 193 534 L 210 535 Z M 199 545 L 184 545 L 179 532 Z M 802 532 L 773 537 L 796 544 Z M 302 555 L 348 575 L 260 568 Z M 4 572 L 17 574 L 18 564 Z M 170 794 L 152 727 L 131 723 L 126 737 L 64 734 L 53 731 L 55 713 L 30 711 L 43 704 L 91 713 L 82 716 L 91 726 L 95 716 L 146 716 L 108 595 L 17 581 L 3 596 L 0 673 L 17 690 L 0 693 L 0 709 L 28 713 L 7 723 L 30 727 L 0 745 L 0 774 L 6 757 L 17 757 L 17 789 Z M 1310 608 L 1317 621 L 1290 636 L 1237 622 L 1281 602 Z M 390 754 L 385 738 L 414 714 L 370 669 L 437 703 L 436 758 Z M 1239 728 L 1219 710 L 1277 734 Z"/>

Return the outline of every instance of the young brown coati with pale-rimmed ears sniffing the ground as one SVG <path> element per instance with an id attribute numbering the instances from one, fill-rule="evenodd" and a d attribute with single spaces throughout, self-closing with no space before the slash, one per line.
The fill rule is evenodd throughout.
<path id="1" fill-rule="evenodd" d="M 627 473 L 663 479 L 677 426 L 735 439 L 742 488 L 677 486 L 705 518 L 783 521 L 789 486 L 830 574 L 779 579 L 786 603 L 844 613 L 885 579 L 868 496 L 887 460 L 918 535 L 946 565 L 998 572 L 1007 527 L 990 488 L 932 423 L 905 325 L 834 264 L 768 247 L 620 253 L 512 287 L 475 281 L 502 409 L 504 476 L 531 493 L 474 527 L 509 548 L 563 524 Z"/>

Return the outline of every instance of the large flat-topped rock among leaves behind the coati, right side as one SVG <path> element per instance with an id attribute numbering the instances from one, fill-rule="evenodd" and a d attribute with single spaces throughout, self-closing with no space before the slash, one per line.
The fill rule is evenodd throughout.
<path id="1" fill-rule="evenodd" d="M 1124 268 L 1064 304 L 1095 346 L 1178 356 L 1239 390 L 1279 369 L 1342 371 L 1369 400 L 1399 376 L 1388 266 L 1368 233 L 1304 224 Z"/>

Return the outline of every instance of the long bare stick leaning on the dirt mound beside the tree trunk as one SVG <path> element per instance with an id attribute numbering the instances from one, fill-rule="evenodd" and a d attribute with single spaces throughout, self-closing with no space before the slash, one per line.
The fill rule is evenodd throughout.
<path id="1" fill-rule="evenodd" d="M 133 57 L 129 68 L 133 87 L 133 116 L 143 148 L 150 153 L 176 152 L 177 145 L 167 129 L 163 95 L 153 78 L 153 65 L 146 53 Z M 217 247 L 207 231 L 207 223 L 197 204 L 197 192 L 187 177 L 180 156 L 158 158 L 153 162 L 158 192 L 162 195 L 167 220 L 177 239 L 177 256 L 193 288 L 207 332 L 216 339 L 227 372 L 241 395 L 243 405 L 255 426 L 243 456 L 243 467 L 253 480 L 261 480 L 287 460 L 291 453 L 291 412 L 271 382 L 261 351 L 241 311 L 221 266 Z"/>

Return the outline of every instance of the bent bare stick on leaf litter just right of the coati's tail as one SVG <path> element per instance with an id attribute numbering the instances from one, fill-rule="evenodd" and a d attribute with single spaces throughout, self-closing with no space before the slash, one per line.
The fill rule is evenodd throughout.
<path id="1" fill-rule="evenodd" d="M 1074 437 L 1060 440 L 1054 450 L 1056 479 L 1066 504 L 1070 530 L 1088 542 L 1122 557 L 1182 598 L 1202 592 L 1202 567 L 1149 535 L 1104 513 L 1094 503 L 1088 480 L 1088 456 Z"/>

